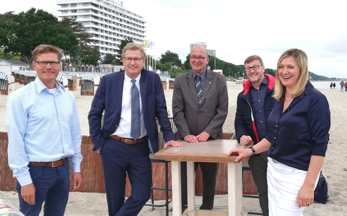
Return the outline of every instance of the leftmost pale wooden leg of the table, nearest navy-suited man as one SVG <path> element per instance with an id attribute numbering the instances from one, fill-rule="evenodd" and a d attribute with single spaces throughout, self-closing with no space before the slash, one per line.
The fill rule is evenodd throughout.
<path id="1" fill-rule="evenodd" d="M 171 162 L 172 192 L 173 192 L 173 216 L 182 216 L 181 202 L 181 162 Z"/>

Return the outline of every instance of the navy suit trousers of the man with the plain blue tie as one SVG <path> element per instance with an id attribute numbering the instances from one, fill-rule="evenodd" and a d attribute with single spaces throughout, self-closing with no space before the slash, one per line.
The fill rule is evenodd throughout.
<path id="1" fill-rule="evenodd" d="M 108 138 L 101 147 L 108 216 L 137 216 L 150 199 L 152 165 L 149 154 L 148 141 L 130 145 Z M 127 174 L 131 195 L 124 202 Z"/>

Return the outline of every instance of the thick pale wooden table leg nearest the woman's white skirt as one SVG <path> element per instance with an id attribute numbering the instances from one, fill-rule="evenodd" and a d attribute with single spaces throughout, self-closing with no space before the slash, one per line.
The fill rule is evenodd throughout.
<path id="1" fill-rule="evenodd" d="M 229 216 L 242 216 L 242 165 L 228 163 Z"/>

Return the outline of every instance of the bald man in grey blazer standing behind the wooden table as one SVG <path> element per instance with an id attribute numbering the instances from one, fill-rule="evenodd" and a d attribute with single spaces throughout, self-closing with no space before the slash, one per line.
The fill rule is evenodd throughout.
<path id="1" fill-rule="evenodd" d="M 228 91 L 225 77 L 206 70 L 207 51 L 195 46 L 189 57 L 192 71 L 175 78 L 173 121 L 184 141 L 190 143 L 223 139 L 222 127 L 228 114 Z M 202 94 L 201 94 L 202 91 Z M 196 145 L 198 147 L 198 144 Z M 200 164 L 203 181 L 200 209 L 211 210 L 214 204 L 218 163 Z M 182 212 L 187 205 L 186 163 L 181 164 Z"/>

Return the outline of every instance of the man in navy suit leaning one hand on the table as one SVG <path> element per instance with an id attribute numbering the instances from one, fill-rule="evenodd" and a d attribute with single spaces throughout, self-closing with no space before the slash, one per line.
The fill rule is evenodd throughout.
<path id="1" fill-rule="evenodd" d="M 100 81 L 88 114 L 89 133 L 95 146 L 93 150 L 101 156 L 108 215 L 136 216 L 151 195 L 149 153 L 150 150 L 153 153 L 158 151 L 155 118 L 159 120 L 166 145 L 182 144 L 174 141 L 159 76 L 142 69 L 146 58 L 142 45 L 127 44 L 122 58 L 125 71 L 105 75 Z M 131 106 L 134 106 L 131 88 L 134 85 L 139 92 L 138 138 L 130 135 L 132 127 L 136 126 L 134 123 L 131 125 Z M 127 174 L 131 195 L 124 202 Z"/>

